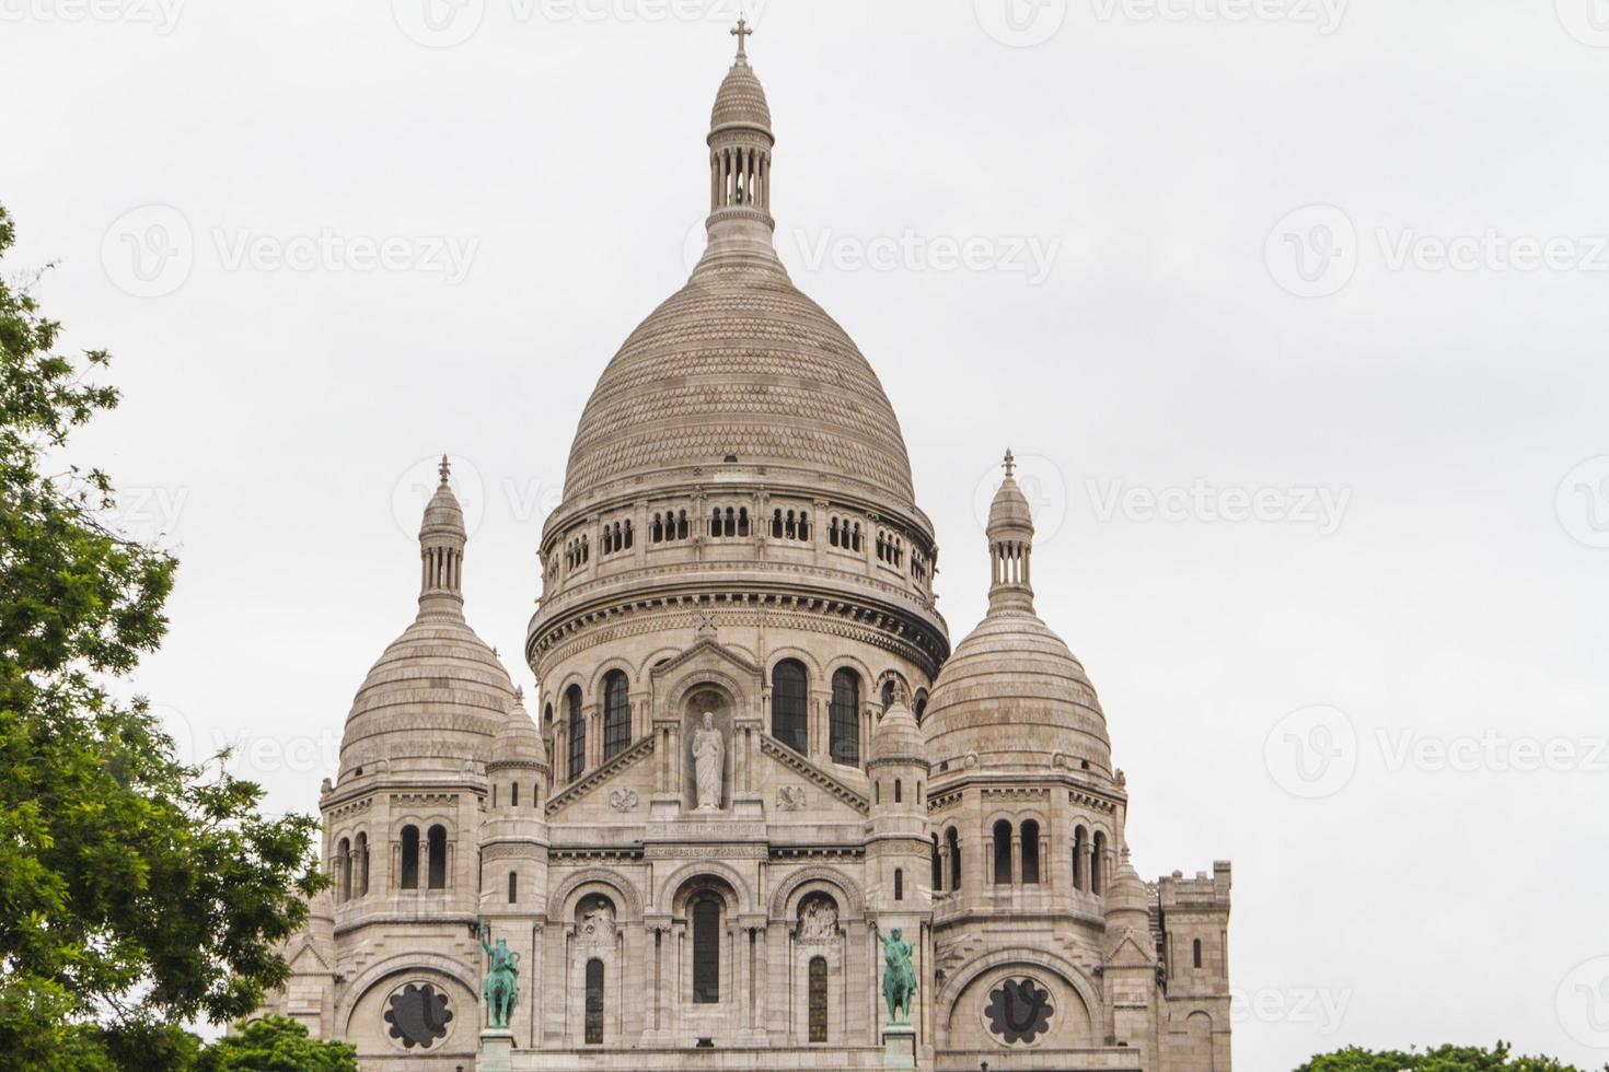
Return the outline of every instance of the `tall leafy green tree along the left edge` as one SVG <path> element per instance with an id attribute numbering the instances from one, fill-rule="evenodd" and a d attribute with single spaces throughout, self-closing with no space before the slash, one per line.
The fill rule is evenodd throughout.
<path id="1" fill-rule="evenodd" d="M 0 207 L 0 260 L 13 241 Z M 175 563 L 108 522 L 105 473 L 47 471 L 117 403 L 85 379 L 106 352 L 79 366 L 58 333 L 0 278 L 0 1067 L 92 1070 L 254 1011 L 325 879 L 314 818 L 264 815 L 106 688 L 163 638 Z"/>

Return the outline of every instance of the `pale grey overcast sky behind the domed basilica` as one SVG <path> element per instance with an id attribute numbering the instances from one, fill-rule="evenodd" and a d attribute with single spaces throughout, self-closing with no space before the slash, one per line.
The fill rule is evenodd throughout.
<path id="1" fill-rule="evenodd" d="M 138 672 L 311 810 L 441 452 L 520 662 L 582 403 L 681 286 L 735 0 L 0 0 L 0 201 L 182 559 Z M 1234 861 L 1236 1064 L 1609 1061 L 1609 5 L 771 0 L 779 248 L 959 641 L 1007 445 L 1146 878 Z M 1596 5 L 1596 8 L 1595 8 Z M 426 18 L 428 16 L 428 18 Z"/>

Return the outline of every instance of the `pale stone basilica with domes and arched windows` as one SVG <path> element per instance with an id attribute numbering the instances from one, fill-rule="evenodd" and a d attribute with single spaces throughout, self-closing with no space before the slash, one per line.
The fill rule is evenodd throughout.
<path id="1" fill-rule="evenodd" d="M 375 1072 L 1226 1072 L 1229 865 L 1131 866 L 1010 458 L 951 648 L 893 407 L 774 251 L 735 34 L 708 246 L 603 368 L 542 529 L 539 688 L 468 624 L 442 463 L 272 1009 Z"/>

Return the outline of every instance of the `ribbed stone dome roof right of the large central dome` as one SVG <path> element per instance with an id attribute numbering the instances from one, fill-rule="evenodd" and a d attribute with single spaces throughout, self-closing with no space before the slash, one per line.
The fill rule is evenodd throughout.
<path id="1" fill-rule="evenodd" d="M 956 646 L 927 704 L 928 759 L 954 765 L 1075 767 L 1112 773 L 1112 744 L 1096 689 L 1062 638 L 1030 609 L 991 609 Z"/>

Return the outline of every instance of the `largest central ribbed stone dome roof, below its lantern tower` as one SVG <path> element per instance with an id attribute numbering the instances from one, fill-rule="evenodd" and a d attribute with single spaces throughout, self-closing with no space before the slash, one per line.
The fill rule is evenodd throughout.
<path id="1" fill-rule="evenodd" d="M 570 450 L 565 498 L 737 456 L 912 506 L 899 419 L 850 336 L 793 286 L 769 244 L 743 256 L 718 248 L 603 370 Z"/>

